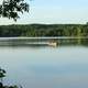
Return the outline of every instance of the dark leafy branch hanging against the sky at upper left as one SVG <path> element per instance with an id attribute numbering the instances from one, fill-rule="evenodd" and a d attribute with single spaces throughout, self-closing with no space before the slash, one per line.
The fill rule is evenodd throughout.
<path id="1" fill-rule="evenodd" d="M 0 6 L 0 16 L 16 21 L 19 12 L 29 12 L 29 4 L 24 0 L 3 0 Z"/>

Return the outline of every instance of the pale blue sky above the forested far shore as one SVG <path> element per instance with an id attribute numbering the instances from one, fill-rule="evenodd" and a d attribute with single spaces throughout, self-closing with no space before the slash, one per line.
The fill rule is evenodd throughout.
<path id="1" fill-rule="evenodd" d="M 30 12 L 20 14 L 13 20 L 0 18 L 0 25 L 4 24 L 68 24 L 88 22 L 88 0 L 26 0 Z M 1 0 L 0 0 L 1 3 Z"/>

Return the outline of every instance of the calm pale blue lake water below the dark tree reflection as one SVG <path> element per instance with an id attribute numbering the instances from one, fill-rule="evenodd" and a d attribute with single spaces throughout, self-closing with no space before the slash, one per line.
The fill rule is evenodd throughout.
<path id="1" fill-rule="evenodd" d="M 88 44 L 76 43 L 0 46 L 0 66 L 7 70 L 3 82 L 23 88 L 88 88 Z"/>

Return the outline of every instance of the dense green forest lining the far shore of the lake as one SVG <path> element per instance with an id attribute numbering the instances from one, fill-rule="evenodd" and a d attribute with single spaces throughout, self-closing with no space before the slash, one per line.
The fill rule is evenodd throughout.
<path id="1" fill-rule="evenodd" d="M 0 37 L 6 36 L 88 36 L 88 24 L 0 25 Z"/>

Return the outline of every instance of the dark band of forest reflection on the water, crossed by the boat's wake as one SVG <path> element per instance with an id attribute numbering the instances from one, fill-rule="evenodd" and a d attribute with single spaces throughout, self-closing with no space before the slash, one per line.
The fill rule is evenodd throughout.
<path id="1" fill-rule="evenodd" d="M 88 38 L 33 38 L 33 40 L 0 40 L 0 46 L 66 46 L 66 45 L 82 45 L 88 46 Z"/>

